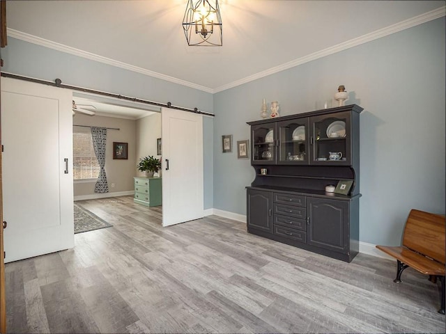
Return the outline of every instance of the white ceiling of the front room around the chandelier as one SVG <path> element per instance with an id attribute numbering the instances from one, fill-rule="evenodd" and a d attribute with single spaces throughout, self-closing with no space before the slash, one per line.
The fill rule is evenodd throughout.
<path id="1" fill-rule="evenodd" d="M 394 31 L 401 22 L 419 24 L 432 10 L 445 15 L 445 1 L 220 0 L 223 46 L 189 47 L 181 25 L 186 3 L 7 1 L 8 34 L 215 93 L 377 38 L 394 24 Z"/>

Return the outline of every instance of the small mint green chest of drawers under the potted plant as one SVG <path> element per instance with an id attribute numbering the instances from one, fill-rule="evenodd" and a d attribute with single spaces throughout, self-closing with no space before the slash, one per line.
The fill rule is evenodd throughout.
<path id="1" fill-rule="evenodd" d="M 146 207 L 161 205 L 161 177 L 134 177 L 133 202 Z"/>

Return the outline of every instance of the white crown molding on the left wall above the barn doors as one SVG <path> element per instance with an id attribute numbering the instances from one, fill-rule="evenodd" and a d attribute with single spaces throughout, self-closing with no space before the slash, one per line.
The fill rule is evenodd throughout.
<path id="1" fill-rule="evenodd" d="M 205 86 L 193 84 L 192 82 L 177 79 L 174 77 L 169 77 L 168 75 L 153 72 L 151 70 L 146 70 L 142 67 L 130 65 L 127 63 L 123 63 L 121 61 L 115 61 L 114 59 L 99 56 L 98 54 L 92 54 L 91 52 L 82 51 L 82 50 L 76 49 L 74 47 L 68 47 L 67 45 L 63 45 L 63 44 L 60 44 L 57 42 L 52 42 L 51 40 L 45 40 L 45 38 L 40 38 L 35 35 L 30 35 L 29 33 L 23 33 L 22 31 L 17 31 L 15 29 L 10 29 L 10 28 L 7 29 L 7 33 L 8 33 L 8 36 L 10 36 L 12 38 L 17 38 L 19 40 L 24 40 L 25 42 L 30 42 L 30 43 L 40 45 L 43 47 L 48 47 L 49 49 L 62 51 L 67 54 L 72 54 L 72 55 L 79 56 L 82 58 L 90 59 L 91 61 L 98 61 L 100 63 L 105 63 L 107 65 L 121 67 L 125 70 L 130 70 L 132 72 L 137 72 L 137 73 L 141 73 L 144 75 L 148 75 L 149 77 L 154 77 L 157 79 L 170 81 L 170 82 L 173 82 L 174 84 L 179 84 L 182 86 L 187 86 L 187 87 L 198 89 L 198 90 L 203 90 L 207 93 L 213 93 L 213 89 L 205 87 Z"/>

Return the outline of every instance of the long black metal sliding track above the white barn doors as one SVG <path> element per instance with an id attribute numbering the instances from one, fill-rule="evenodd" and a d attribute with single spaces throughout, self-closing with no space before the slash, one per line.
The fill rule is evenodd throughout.
<path id="1" fill-rule="evenodd" d="M 102 92 L 101 90 L 94 90 L 94 89 L 90 89 L 90 88 L 70 86 L 70 85 L 62 84 L 61 79 L 56 79 L 56 80 L 54 80 L 54 82 L 52 82 L 52 81 L 46 81 L 46 80 L 41 80 L 41 79 L 34 79 L 34 78 L 30 78 L 30 77 L 24 77 L 22 75 L 6 73 L 6 72 L 1 72 L 1 77 L 30 81 L 30 82 L 34 82 L 36 84 L 43 84 L 43 85 L 59 87 L 59 88 L 67 88 L 70 90 L 79 90 L 84 93 L 92 93 L 92 94 L 103 95 L 103 96 L 107 96 L 107 97 L 115 97 L 119 100 L 127 100 L 127 101 L 132 101 L 132 102 L 139 102 L 139 103 L 143 103 L 143 104 L 151 104 L 153 106 L 164 106 L 164 107 L 167 107 L 170 109 L 187 111 L 190 113 L 199 113 L 201 115 L 206 115 L 206 116 L 212 116 L 212 117 L 215 116 L 213 113 L 206 113 L 206 111 L 199 111 L 197 108 L 187 109 L 187 108 L 183 108 L 181 106 L 172 106 L 171 102 L 167 102 L 167 104 L 163 104 L 163 103 L 152 102 L 152 101 L 148 101 L 148 100 L 141 100 L 141 99 L 138 99 L 137 97 L 128 97 L 128 96 L 121 95 L 121 94 Z"/>

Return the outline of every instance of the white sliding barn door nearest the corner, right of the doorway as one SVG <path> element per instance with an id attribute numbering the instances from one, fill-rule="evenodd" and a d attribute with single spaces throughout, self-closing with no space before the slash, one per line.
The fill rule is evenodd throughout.
<path id="1" fill-rule="evenodd" d="M 203 116 L 162 108 L 162 225 L 203 217 Z"/>

